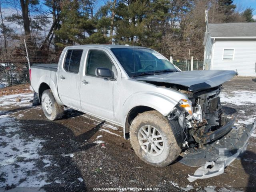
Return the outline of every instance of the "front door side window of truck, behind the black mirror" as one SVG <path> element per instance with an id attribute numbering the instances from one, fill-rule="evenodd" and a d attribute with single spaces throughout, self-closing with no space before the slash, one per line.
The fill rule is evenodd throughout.
<path id="1" fill-rule="evenodd" d="M 96 68 L 105 67 L 112 71 L 113 63 L 108 55 L 99 50 L 89 50 L 86 64 L 86 74 L 96 76 Z"/>

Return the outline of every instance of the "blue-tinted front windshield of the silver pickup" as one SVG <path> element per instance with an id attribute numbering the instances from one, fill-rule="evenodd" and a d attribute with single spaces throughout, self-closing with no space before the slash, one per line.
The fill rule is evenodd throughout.
<path id="1" fill-rule="evenodd" d="M 151 49 L 112 48 L 111 50 L 130 77 L 179 71 L 169 60 Z"/>

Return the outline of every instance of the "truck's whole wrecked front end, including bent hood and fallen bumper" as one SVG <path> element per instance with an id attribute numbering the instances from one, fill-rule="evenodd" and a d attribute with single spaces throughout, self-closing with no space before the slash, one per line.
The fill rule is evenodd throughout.
<path id="1" fill-rule="evenodd" d="M 256 126 L 256 121 L 247 126 L 234 126 L 235 117 L 222 111 L 222 83 L 231 79 L 236 72 L 213 70 L 204 72 L 204 75 L 210 75 L 200 80 L 197 78 L 200 72 L 187 72 L 184 78 L 179 76 L 177 80 L 178 73 L 147 78 L 146 82 L 171 88 L 188 97 L 188 100 L 180 100 L 168 115 L 176 141 L 183 149 L 179 162 L 200 167 L 189 175 L 190 182 L 222 174 L 224 168 L 246 150 L 248 139 Z M 184 75 L 184 72 L 181 73 Z M 196 83 L 192 80 L 193 76 Z M 179 127 L 175 126 L 177 122 Z"/>

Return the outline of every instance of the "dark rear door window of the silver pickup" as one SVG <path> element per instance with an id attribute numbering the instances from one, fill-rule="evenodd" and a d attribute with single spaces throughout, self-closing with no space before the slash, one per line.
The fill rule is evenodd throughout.
<path id="1" fill-rule="evenodd" d="M 68 50 L 64 68 L 68 72 L 79 72 L 83 50 Z"/>

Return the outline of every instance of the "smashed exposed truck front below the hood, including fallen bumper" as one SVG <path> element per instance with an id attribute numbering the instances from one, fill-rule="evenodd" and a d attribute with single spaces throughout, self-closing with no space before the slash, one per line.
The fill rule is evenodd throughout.
<path id="1" fill-rule="evenodd" d="M 180 90 L 187 94 L 189 101 L 181 100 L 168 116 L 170 124 L 178 121 L 181 128 L 174 130 L 184 149 L 180 162 L 200 166 L 194 175 L 189 175 L 190 182 L 222 174 L 224 168 L 246 150 L 255 128 L 255 122 L 236 127 L 235 117 L 222 112 L 221 88 L 220 85 L 196 92 Z"/>

